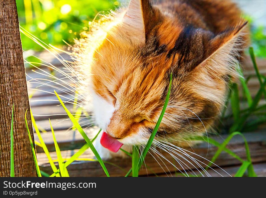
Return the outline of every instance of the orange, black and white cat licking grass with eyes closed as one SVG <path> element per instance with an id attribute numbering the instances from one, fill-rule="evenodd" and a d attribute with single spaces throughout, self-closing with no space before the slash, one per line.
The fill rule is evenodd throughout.
<path id="1" fill-rule="evenodd" d="M 182 142 L 208 130 L 248 42 L 247 22 L 231 1 L 131 0 L 92 22 L 76 40 L 75 71 L 93 98 L 105 143 L 144 145 L 170 99 L 156 141 Z M 88 96 L 89 97 L 89 96 Z M 104 159 L 122 156 L 101 145 Z M 112 140 L 109 140 L 112 139 Z M 110 142 L 109 142 L 110 141 Z"/>

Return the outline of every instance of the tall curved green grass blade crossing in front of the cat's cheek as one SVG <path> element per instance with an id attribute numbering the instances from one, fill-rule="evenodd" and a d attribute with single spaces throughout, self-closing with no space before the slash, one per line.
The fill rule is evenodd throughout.
<path id="1" fill-rule="evenodd" d="M 166 107 L 167 107 L 167 104 L 168 104 L 168 101 L 169 101 L 169 98 L 170 98 L 171 86 L 172 86 L 172 73 L 170 74 L 169 88 L 168 88 L 167 96 L 165 98 L 164 107 L 163 107 L 162 112 L 160 114 L 160 117 L 159 117 L 159 119 L 158 119 L 158 121 L 157 121 L 157 123 L 156 123 L 156 125 L 154 127 L 154 130 L 152 131 L 151 136 L 150 136 L 150 138 L 149 138 L 149 140 L 148 140 L 143 152 L 141 153 L 140 160 L 138 162 L 139 169 L 141 168 L 141 165 L 144 162 L 145 156 L 147 155 L 148 150 L 151 147 L 151 144 L 152 144 L 152 141 L 153 141 L 153 139 L 155 137 L 155 134 L 156 134 L 156 132 L 157 132 L 157 130 L 158 130 L 160 124 L 161 124 L 161 121 L 162 121 L 162 119 L 164 117 L 164 112 L 166 110 Z"/>

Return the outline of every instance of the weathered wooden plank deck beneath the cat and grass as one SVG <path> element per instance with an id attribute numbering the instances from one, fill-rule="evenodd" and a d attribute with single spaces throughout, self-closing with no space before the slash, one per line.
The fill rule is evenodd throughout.
<path id="1" fill-rule="evenodd" d="M 58 68 L 63 69 L 62 64 L 56 58 L 54 58 L 52 55 L 50 55 L 47 52 L 43 52 L 41 54 L 37 54 L 37 57 L 56 65 Z M 66 60 L 69 60 L 67 55 L 63 55 L 63 58 Z M 265 60 L 257 60 L 257 64 L 259 67 L 259 70 L 262 74 L 266 75 L 266 61 Z M 48 118 L 51 119 L 51 123 L 53 125 L 53 128 L 56 132 L 56 138 L 58 141 L 58 144 L 60 146 L 60 149 L 62 151 L 63 158 L 70 158 L 75 152 L 78 151 L 79 148 L 81 148 L 85 141 L 77 131 L 72 130 L 72 123 L 70 120 L 68 120 L 67 115 L 65 114 L 65 111 L 62 106 L 58 106 L 59 102 L 57 101 L 56 96 L 53 94 L 54 90 L 57 91 L 58 94 L 61 95 L 61 98 L 65 101 L 68 101 L 66 98 L 74 98 L 74 93 L 70 93 L 71 91 L 71 82 L 69 79 L 64 79 L 69 83 L 69 86 L 66 85 L 66 87 L 62 87 L 59 84 L 58 80 L 54 82 L 49 82 L 48 80 L 54 80 L 51 77 L 47 77 L 47 75 L 50 72 L 53 72 L 52 74 L 57 76 L 58 78 L 62 77 L 62 75 L 59 72 L 53 71 L 45 66 L 40 67 L 41 70 L 35 69 L 36 72 L 31 71 L 31 69 L 26 69 L 26 73 L 28 74 L 27 80 L 30 82 L 28 83 L 28 92 L 29 95 L 32 96 L 30 99 L 30 105 L 31 110 L 33 114 L 35 115 L 34 118 L 36 120 L 36 123 L 40 130 L 45 130 L 47 132 L 42 133 L 42 137 L 47 144 L 47 148 L 50 151 L 50 154 L 53 159 L 57 159 L 54 143 L 52 139 L 52 134 L 50 132 L 50 124 Z M 246 58 L 243 63 L 244 68 L 244 75 L 249 76 L 255 74 L 255 71 L 252 67 L 251 60 L 249 58 Z M 46 73 L 47 72 L 47 73 Z M 32 80 L 35 79 L 35 80 Z M 36 80 L 37 79 L 37 80 Z M 33 83 L 35 82 L 35 83 Z M 41 83 L 48 83 L 47 85 L 41 85 Z M 41 86 L 40 86 L 41 85 Z M 40 87 L 38 87 L 40 86 Z M 59 87 L 60 86 L 60 87 Z M 57 88 L 56 88 L 57 87 Z M 255 93 L 259 89 L 258 80 L 256 77 L 252 77 L 249 80 L 248 87 L 251 91 L 251 95 L 254 96 Z M 68 88 L 70 90 L 68 90 Z M 42 91 L 39 91 L 42 90 Z M 74 89 L 73 89 L 74 91 Z M 240 96 L 241 91 L 239 92 Z M 69 96 L 69 94 L 72 95 Z M 66 97 L 66 98 L 64 98 Z M 265 101 L 262 101 L 263 103 Z M 243 103 L 242 106 L 245 106 Z M 66 107 L 73 111 L 73 104 L 66 103 Z M 88 112 L 91 113 L 91 112 Z M 83 125 L 85 129 L 85 132 L 89 137 L 91 137 L 92 131 L 99 130 L 96 126 L 90 126 L 88 123 L 87 118 L 82 118 L 80 121 L 80 124 Z M 255 172 L 258 174 L 258 176 L 266 176 L 266 127 L 265 124 L 260 127 L 260 130 L 258 132 L 250 132 L 245 133 L 245 137 L 249 142 L 250 152 L 252 161 L 254 163 Z M 36 134 L 35 140 L 38 141 L 38 137 Z M 226 138 L 226 135 L 222 136 L 214 136 L 214 139 L 216 139 L 218 142 L 222 142 Z M 234 137 L 233 140 L 228 145 L 228 148 L 230 148 L 233 152 L 235 152 L 238 156 L 245 159 L 245 145 L 241 137 Z M 37 158 L 38 163 L 41 166 L 41 170 L 51 174 L 52 170 L 50 168 L 50 165 L 46 158 L 46 155 L 43 152 L 43 149 L 39 146 L 36 146 L 37 149 Z M 158 148 L 157 148 L 158 149 Z M 208 145 L 206 143 L 198 143 L 197 145 L 193 146 L 193 148 L 186 148 L 187 153 L 194 152 L 197 155 L 193 155 L 191 153 L 191 156 L 195 158 L 197 163 L 205 167 L 204 164 L 207 164 L 208 161 L 204 160 L 202 157 L 210 160 L 212 156 L 214 155 L 215 151 L 217 150 L 216 147 L 212 145 Z M 180 176 L 180 174 L 177 172 L 178 169 L 185 173 L 185 171 L 182 169 L 180 164 L 177 163 L 177 161 L 174 160 L 173 156 L 171 156 L 169 153 L 158 149 L 159 152 L 163 154 L 163 156 L 168 159 L 165 160 L 162 157 L 156 156 L 155 154 L 153 156 L 149 155 L 145 159 L 145 166 L 140 171 L 140 176 Z M 189 160 L 188 156 L 186 156 L 184 153 L 181 154 L 181 159 L 183 159 L 183 162 L 186 162 Z M 92 152 L 88 149 L 80 158 L 87 158 L 87 159 L 94 159 L 94 156 Z M 191 160 L 190 160 L 191 162 Z M 190 172 L 197 173 L 197 169 L 199 169 L 199 165 L 196 162 L 186 163 L 187 169 L 190 170 Z M 182 164 L 182 162 L 180 162 Z M 115 165 L 116 166 L 115 166 Z M 216 165 L 218 165 L 221 168 L 218 168 Z M 216 161 L 216 165 L 213 165 L 212 169 L 209 169 L 208 172 L 211 176 L 229 176 L 234 175 L 237 168 L 241 165 L 241 162 L 237 159 L 233 158 L 229 154 L 222 152 L 222 154 L 219 156 L 219 158 Z M 118 168 L 119 166 L 119 168 Z M 183 165 L 184 166 L 184 165 Z M 125 173 L 131 168 L 131 159 L 112 159 L 110 160 L 110 163 L 106 163 L 106 167 L 110 173 L 111 176 L 124 176 Z M 90 161 L 76 161 L 73 162 L 71 165 L 68 166 L 68 171 L 70 176 L 105 176 L 104 172 L 102 171 L 101 166 L 98 162 L 90 162 Z M 227 174 L 229 173 L 229 174 Z M 219 175 L 221 174 L 221 175 Z"/>

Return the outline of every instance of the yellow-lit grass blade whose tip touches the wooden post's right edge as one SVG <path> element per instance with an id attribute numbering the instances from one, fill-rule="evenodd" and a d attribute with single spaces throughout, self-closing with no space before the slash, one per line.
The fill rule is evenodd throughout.
<path id="1" fill-rule="evenodd" d="M 30 110 L 30 112 L 31 112 L 31 110 Z M 40 133 L 39 128 L 38 128 L 38 126 L 37 126 L 37 124 L 36 124 L 36 122 L 35 122 L 35 119 L 34 119 L 34 117 L 33 117 L 32 112 L 31 112 L 31 122 L 32 122 L 32 125 L 33 125 L 33 127 L 34 127 L 34 129 L 35 129 L 35 132 L 36 132 L 36 134 L 37 134 L 37 136 L 38 136 L 38 138 L 39 138 L 39 141 L 40 141 L 40 143 L 41 143 L 41 147 L 43 148 L 44 153 L 45 153 L 45 155 L 47 156 L 47 159 L 48 159 L 48 161 L 49 161 L 49 163 L 50 163 L 50 165 L 51 165 L 51 168 L 52 168 L 53 172 L 55 172 L 55 173 L 58 172 L 58 171 L 57 171 L 57 167 L 54 165 L 54 162 L 53 162 L 53 160 L 52 160 L 52 158 L 51 158 L 51 156 L 50 156 L 50 153 L 49 153 L 49 151 L 48 151 L 48 149 L 47 149 L 47 146 L 46 146 L 46 144 L 44 143 L 43 138 L 41 137 L 41 133 Z M 60 174 L 57 173 L 55 176 L 56 176 L 56 177 L 60 177 Z"/>

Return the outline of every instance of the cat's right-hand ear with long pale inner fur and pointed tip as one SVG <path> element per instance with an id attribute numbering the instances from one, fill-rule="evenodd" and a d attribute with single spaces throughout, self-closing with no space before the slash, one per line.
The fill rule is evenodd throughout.
<path id="1" fill-rule="evenodd" d="M 191 74 L 192 87 L 201 96 L 221 103 L 229 78 L 239 77 L 237 67 L 246 46 L 246 22 L 226 30 L 208 41 L 206 58 L 198 64 Z"/>

